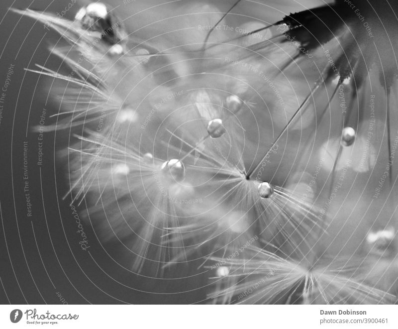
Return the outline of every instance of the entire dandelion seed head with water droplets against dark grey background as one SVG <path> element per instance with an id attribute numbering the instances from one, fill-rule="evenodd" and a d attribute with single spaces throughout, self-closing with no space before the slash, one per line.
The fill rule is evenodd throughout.
<path id="1" fill-rule="evenodd" d="M 48 31 L 30 128 L 83 250 L 198 303 L 397 302 L 396 0 L 68 8 L 10 10 Z"/>

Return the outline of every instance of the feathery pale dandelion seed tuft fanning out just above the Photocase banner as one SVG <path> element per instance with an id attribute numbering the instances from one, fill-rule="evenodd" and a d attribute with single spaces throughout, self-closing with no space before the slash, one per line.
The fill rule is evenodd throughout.
<path id="1" fill-rule="evenodd" d="M 241 275 L 233 297 L 238 304 L 391 302 L 390 294 L 347 276 L 345 269 L 338 264 L 324 266 L 318 261 L 307 267 L 259 248 L 251 247 L 248 252 L 248 260 L 226 261 L 233 276 Z M 218 293 L 222 295 L 225 291 Z"/>

